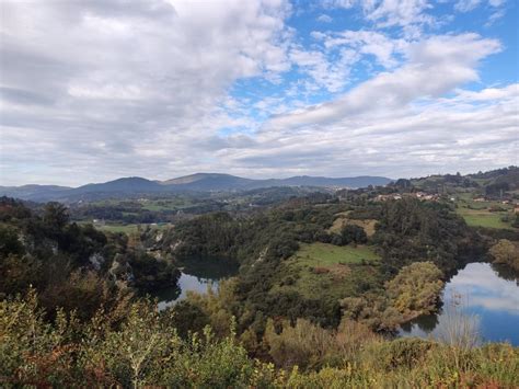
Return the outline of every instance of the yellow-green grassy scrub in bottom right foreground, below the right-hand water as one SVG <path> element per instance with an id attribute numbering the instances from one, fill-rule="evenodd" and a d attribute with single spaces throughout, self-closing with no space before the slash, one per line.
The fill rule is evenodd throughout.
<path id="1" fill-rule="evenodd" d="M 292 388 L 518 388 L 519 348 L 489 344 L 464 352 L 411 340 L 372 342 L 353 357 L 353 368 L 298 370 Z M 301 371 L 301 373 L 300 373 Z M 280 386 L 281 387 L 281 386 Z"/>

